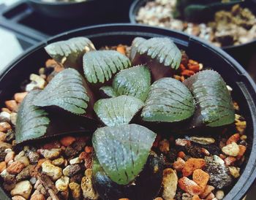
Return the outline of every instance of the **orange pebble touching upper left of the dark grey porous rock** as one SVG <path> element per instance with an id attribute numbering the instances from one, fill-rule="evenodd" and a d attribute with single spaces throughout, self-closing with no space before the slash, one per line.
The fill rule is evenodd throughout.
<path id="1" fill-rule="evenodd" d="M 203 166 L 206 166 L 206 161 L 202 158 L 189 158 L 184 164 L 182 169 L 182 174 L 184 177 L 190 176 L 195 169 L 202 169 Z"/>

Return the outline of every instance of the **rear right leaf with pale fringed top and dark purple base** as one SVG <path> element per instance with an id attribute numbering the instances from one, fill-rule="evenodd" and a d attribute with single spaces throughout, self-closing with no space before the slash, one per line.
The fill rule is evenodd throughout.
<path id="1" fill-rule="evenodd" d="M 131 58 L 133 65 L 146 64 L 153 80 L 170 77 L 181 63 L 181 51 L 167 37 L 151 39 L 135 38 L 132 42 Z"/>

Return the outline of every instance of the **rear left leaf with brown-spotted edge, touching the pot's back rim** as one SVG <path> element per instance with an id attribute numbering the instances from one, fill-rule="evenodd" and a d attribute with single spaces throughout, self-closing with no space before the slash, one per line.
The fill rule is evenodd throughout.
<path id="1" fill-rule="evenodd" d="M 74 37 L 64 41 L 53 42 L 45 47 L 46 52 L 64 67 L 81 69 L 83 54 L 95 50 L 92 42 L 83 36 Z"/>

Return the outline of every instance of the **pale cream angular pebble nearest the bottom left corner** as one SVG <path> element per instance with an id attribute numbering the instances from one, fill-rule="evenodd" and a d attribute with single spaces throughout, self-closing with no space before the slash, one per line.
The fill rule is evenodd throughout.
<path id="1" fill-rule="evenodd" d="M 11 195 L 20 195 L 23 196 L 25 199 L 29 199 L 31 191 L 32 185 L 30 184 L 29 180 L 23 180 L 15 185 L 15 188 L 13 188 L 11 191 Z"/>

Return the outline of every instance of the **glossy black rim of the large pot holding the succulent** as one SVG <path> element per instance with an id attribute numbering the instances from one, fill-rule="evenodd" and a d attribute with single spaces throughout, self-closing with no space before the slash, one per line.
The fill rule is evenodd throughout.
<path id="1" fill-rule="evenodd" d="M 108 32 L 104 30 L 104 28 L 109 28 Z M 116 29 L 115 29 L 116 28 Z M 135 36 L 136 31 L 129 31 L 129 30 L 135 30 L 135 29 L 140 29 L 143 28 L 144 31 L 151 30 L 151 32 L 147 32 L 148 34 L 156 34 L 156 32 L 159 35 L 162 36 L 167 36 L 168 33 L 176 34 L 176 36 L 180 36 L 181 38 L 186 38 L 189 41 L 192 42 L 199 42 L 202 44 L 204 47 L 209 48 L 214 51 L 217 55 L 219 55 L 222 59 L 227 61 L 231 66 L 234 66 L 234 70 L 238 73 L 240 76 L 246 77 L 246 80 L 248 84 L 246 84 L 249 88 L 252 89 L 252 91 L 249 93 L 247 91 L 247 97 L 246 101 L 249 101 L 249 112 L 250 114 L 254 114 L 256 116 L 256 85 L 255 82 L 252 80 L 251 77 L 249 77 L 249 74 L 246 72 L 246 70 L 238 64 L 238 62 L 232 58 L 230 55 L 225 53 L 222 49 L 219 47 L 215 47 L 214 45 L 210 45 L 206 42 L 204 42 L 202 39 L 198 39 L 195 36 L 189 36 L 187 34 L 184 34 L 180 31 L 172 31 L 167 28 L 157 28 L 157 27 L 152 27 L 152 26 L 145 26 L 145 25 L 139 25 L 139 24 L 130 24 L 130 23 L 113 23 L 113 24 L 105 24 L 105 25 L 97 25 L 97 26 L 89 26 L 86 28 L 78 28 L 72 31 L 67 31 L 62 34 L 58 34 L 56 36 L 50 37 L 50 39 L 45 39 L 42 42 L 39 42 L 38 45 L 29 48 L 29 50 L 26 50 L 24 53 L 18 56 L 18 58 L 15 58 L 14 61 L 12 61 L 10 64 L 4 67 L 4 69 L 0 72 L 0 81 L 3 79 L 3 77 L 10 72 L 10 70 L 18 64 L 20 61 L 23 59 L 26 59 L 27 55 L 30 55 L 31 53 L 34 53 L 35 51 L 39 50 L 42 47 L 45 47 L 45 45 L 48 45 L 48 43 L 55 42 L 56 39 L 59 39 L 61 36 L 69 36 L 70 34 L 75 34 L 79 33 L 81 31 L 89 31 L 89 34 L 86 36 L 97 36 L 97 35 L 102 35 L 104 34 L 110 35 L 111 31 L 113 34 L 130 34 L 131 36 Z M 125 31 L 124 31 L 125 29 Z M 110 31 L 109 31 L 110 30 Z M 91 34 L 91 31 L 94 34 Z M 100 34 L 102 33 L 102 34 Z M 138 30 L 138 34 L 143 33 L 143 31 Z M 182 40 L 182 39 L 181 39 Z M 246 87 L 244 85 L 244 87 Z M 248 88 L 246 87 L 246 88 Z M 244 172 L 241 174 L 241 177 L 239 177 L 238 182 L 233 186 L 233 188 L 227 193 L 225 196 L 225 200 L 228 199 L 241 199 L 242 197 L 245 196 L 246 191 L 249 190 L 249 188 L 252 186 L 252 183 L 255 180 L 256 177 L 256 117 L 252 115 L 252 127 L 254 129 L 253 133 L 253 141 L 252 141 L 252 150 L 251 153 L 249 154 L 248 162 L 246 166 L 244 167 Z M 0 188 L 0 191 L 3 191 L 2 188 Z"/>

